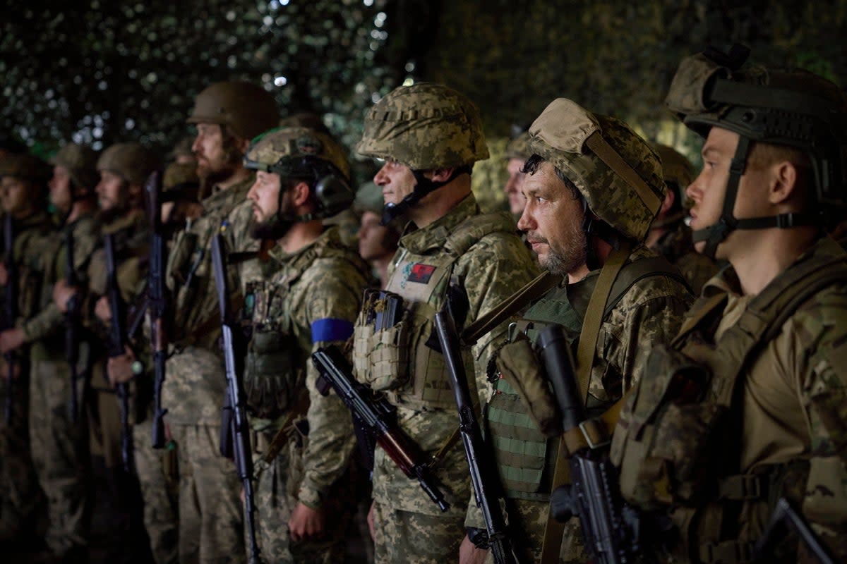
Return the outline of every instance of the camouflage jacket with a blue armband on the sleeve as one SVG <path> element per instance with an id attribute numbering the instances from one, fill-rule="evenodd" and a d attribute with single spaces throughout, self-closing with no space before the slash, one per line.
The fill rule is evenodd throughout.
<path id="1" fill-rule="evenodd" d="M 350 412 L 340 398 L 318 393 L 310 355 L 320 347 L 343 347 L 352 335 L 367 265 L 344 246 L 337 227 L 292 254 L 274 247 L 270 258 L 274 272 L 246 285 L 244 317 L 253 320 L 246 399 L 251 408 L 275 419 L 254 418 L 253 428 L 274 435 L 280 418 L 303 395 L 308 397 L 302 413 L 308 421 L 304 478 L 297 498 L 318 507 L 344 472 L 355 439 Z"/>

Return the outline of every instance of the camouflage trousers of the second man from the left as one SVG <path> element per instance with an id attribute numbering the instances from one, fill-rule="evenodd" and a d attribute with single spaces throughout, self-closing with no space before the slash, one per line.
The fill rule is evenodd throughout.
<path id="1" fill-rule="evenodd" d="M 38 481 L 47 495 L 47 545 L 57 555 L 86 545 L 86 424 L 69 413 L 70 369 L 64 360 L 30 365 L 30 445 Z M 85 382 L 78 379 L 82 405 Z M 80 407 L 81 412 L 81 407 Z"/>

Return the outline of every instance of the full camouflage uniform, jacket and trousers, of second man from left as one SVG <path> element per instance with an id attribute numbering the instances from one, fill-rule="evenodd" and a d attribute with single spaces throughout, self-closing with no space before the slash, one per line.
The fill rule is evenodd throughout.
<path id="1" fill-rule="evenodd" d="M 94 216 L 80 216 L 64 227 L 70 231 L 74 242 L 75 269 L 85 280 L 91 254 L 97 247 L 99 222 Z M 69 545 L 85 544 L 87 539 L 86 468 L 88 446 L 86 425 L 73 423 L 69 413 L 70 368 L 65 358 L 64 333 L 57 331 L 64 315 L 53 304 L 53 282 L 66 277 L 65 244 L 53 249 L 52 268 L 45 277 L 47 292 L 42 295 L 42 315 L 25 326 L 28 339 L 37 339 L 32 346 L 32 381 L 30 383 L 30 441 L 32 457 L 36 463 L 39 481 L 47 493 L 50 512 L 50 529 L 47 541 L 54 552 L 61 553 Z M 85 397 L 86 374 L 90 362 L 90 348 L 81 334 L 80 363 L 77 367 L 77 397 L 80 413 Z M 78 413 L 78 414 L 80 414 Z"/>

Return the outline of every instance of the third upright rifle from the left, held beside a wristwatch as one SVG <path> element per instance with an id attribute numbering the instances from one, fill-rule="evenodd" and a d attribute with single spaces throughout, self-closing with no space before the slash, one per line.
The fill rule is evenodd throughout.
<path id="1" fill-rule="evenodd" d="M 106 253 L 106 292 L 108 309 L 112 313 L 109 329 L 108 356 L 110 359 L 126 353 L 126 332 L 124 329 L 125 304 L 118 287 L 118 267 L 114 256 L 114 238 L 112 233 L 103 235 L 103 250 Z M 132 430 L 130 430 L 130 392 L 125 382 L 115 388 L 120 400 L 120 457 L 126 472 L 132 472 Z"/>

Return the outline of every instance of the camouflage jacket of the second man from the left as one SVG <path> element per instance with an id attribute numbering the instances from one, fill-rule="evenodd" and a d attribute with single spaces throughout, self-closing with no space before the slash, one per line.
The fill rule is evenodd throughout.
<path id="1" fill-rule="evenodd" d="M 70 233 L 69 233 L 70 232 Z M 33 354 L 39 358 L 49 355 L 52 358 L 64 359 L 64 347 L 58 341 L 64 336 L 56 332 L 64 321 L 64 314 L 53 302 L 53 284 L 60 279 L 67 278 L 67 244 L 68 235 L 74 242 L 74 268 L 79 277 L 80 287 L 87 287 L 87 271 L 91 261 L 91 255 L 100 244 L 100 223 L 93 214 L 80 216 L 73 223 L 63 227 L 61 233 L 53 233 L 51 241 L 43 245 L 42 257 L 45 260 L 43 284 L 41 288 L 40 306 L 41 311 L 29 320 L 26 320 L 23 328 L 25 342 L 35 342 L 51 337 L 44 350 Z"/>

